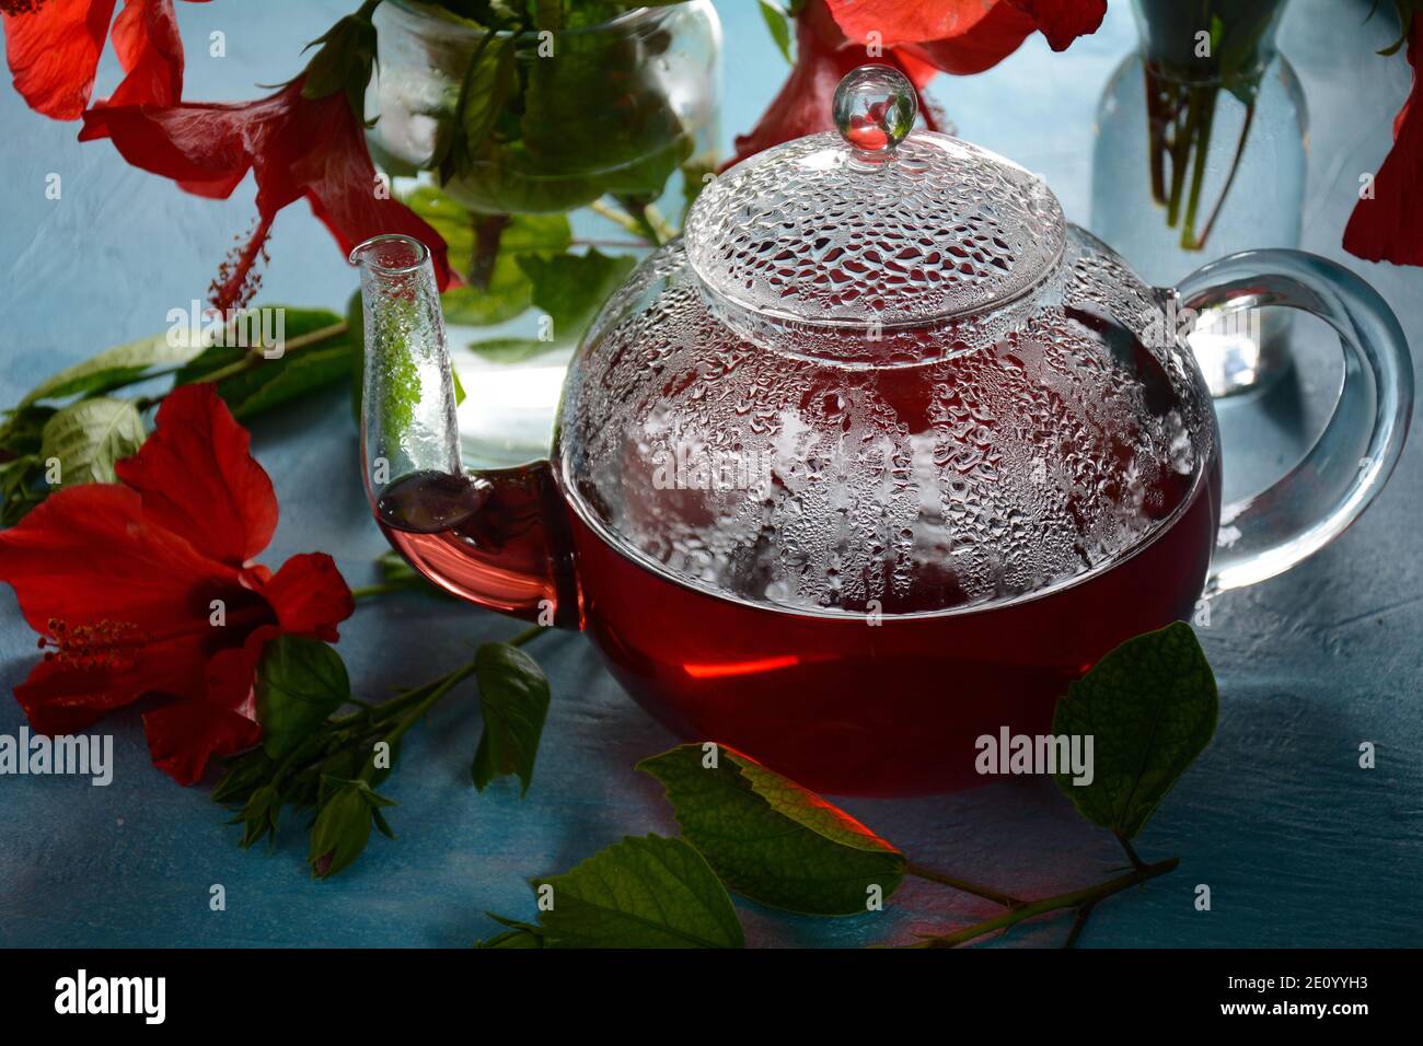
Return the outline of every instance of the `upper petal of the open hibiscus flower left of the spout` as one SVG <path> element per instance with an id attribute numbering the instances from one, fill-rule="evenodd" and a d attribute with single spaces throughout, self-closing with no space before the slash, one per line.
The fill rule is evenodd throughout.
<path id="1" fill-rule="evenodd" d="M 208 383 L 169 393 L 157 423 L 114 467 L 142 495 L 145 519 L 231 566 L 252 559 L 272 539 L 277 508 L 272 480 L 248 453 L 248 430 Z"/>

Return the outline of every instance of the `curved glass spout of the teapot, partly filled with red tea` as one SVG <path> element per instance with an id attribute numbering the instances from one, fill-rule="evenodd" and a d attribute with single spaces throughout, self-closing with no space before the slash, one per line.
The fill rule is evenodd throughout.
<path id="1" fill-rule="evenodd" d="M 366 327 L 361 477 L 386 539 L 454 595 L 541 625 L 582 622 L 565 508 L 546 461 L 465 471 L 430 250 L 351 250 Z"/>

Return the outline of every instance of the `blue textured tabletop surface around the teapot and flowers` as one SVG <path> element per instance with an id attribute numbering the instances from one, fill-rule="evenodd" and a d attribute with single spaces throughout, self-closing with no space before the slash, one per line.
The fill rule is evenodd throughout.
<path id="1" fill-rule="evenodd" d="M 297 41 L 350 3 L 178 4 L 189 41 L 189 98 L 253 97 L 297 68 Z M 780 84 L 776 54 L 750 0 L 719 3 L 726 27 L 724 128 L 748 128 Z M 1372 51 L 1392 37 L 1363 0 L 1295 0 L 1282 47 L 1312 112 L 1305 248 L 1366 275 L 1423 346 L 1423 272 L 1346 259 L 1339 235 L 1358 176 L 1375 169 L 1407 91 L 1402 58 Z M 238 13 L 240 10 L 240 14 Z M 221 28 L 228 57 L 201 46 Z M 280 43 L 275 43 L 280 41 Z M 1066 54 L 1040 38 L 975 78 L 941 78 L 935 95 L 965 138 L 1040 171 L 1069 216 L 1086 221 L 1093 110 L 1133 46 L 1123 0 L 1097 36 Z M 100 94 L 115 83 L 105 65 Z M 0 401 L 40 376 L 108 344 L 162 330 L 174 305 L 205 295 L 218 258 L 252 219 L 250 184 L 218 204 L 127 167 L 105 142 L 30 114 L 0 90 Z M 44 199 L 44 176 L 64 198 Z M 342 307 L 354 279 L 305 206 L 277 221 L 268 302 Z M 1308 386 L 1309 383 L 1306 383 Z M 1328 386 L 1328 381 L 1322 384 Z M 384 549 L 357 482 L 343 397 L 255 426 L 282 524 L 263 561 L 333 554 L 353 585 Z M 1281 451 L 1284 454 L 1284 451 Z M 1141 838 L 1148 858 L 1181 868 L 1101 905 L 1083 945 L 1414 945 L 1423 925 L 1423 565 L 1419 517 L 1423 447 L 1414 440 L 1389 490 L 1335 545 L 1284 578 L 1212 606 L 1202 642 L 1221 683 L 1215 743 Z M 1257 463 L 1258 464 L 1258 463 Z M 1264 465 L 1284 467 L 1288 460 Z M 340 652 L 369 696 L 424 680 L 517 623 L 417 596 L 357 611 Z M 676 825 L 660 788 L 632 764 L 673 739 L 599 667 L 578 635 L 548 635 L 534 653 L 554 680 L 554 709 L 534 788 L 468 784 L 478 716 L 450 700 L 408 739 L 387 791 L 398 842 L 376 838 L 332 882 L 305 867 L 305 834 L 289 824 L 270 854 L 242 852 L 238 830 L 202 788 L 179 788 L 149 766 L 138 716 L 115 734 L 107 788 L 84 780 L 0 777 L 0 944 L 7 945 L 467 945 L 491 932 L 482 911 L 531 912 L 525 878 L 561 871 L 623 834 Z M 36 659 L 9 589 L 0 592 L 0 686 Z M 18 707 L 0 702 L 0 733 Z M 1359 770 L 1358 746 L 1379 747 Z M 1114 844 L 1080 823 L 1040 783 L 961 796 L 845 805 L 921 864 L 1020 895 L 1086 885 L 1120 864 Z M 223 884 L 228 907 L 208 908 Z M 1192 908 L 1210 884 L 1211 912 Z M 946 928 L 989 905 L 911 882 L 882 914 L 815 921 L 740 905 L 757 945 L 859 945 Z M 1056 944 L 1063 919 L 1022 926 L 1003 944 Z"/>

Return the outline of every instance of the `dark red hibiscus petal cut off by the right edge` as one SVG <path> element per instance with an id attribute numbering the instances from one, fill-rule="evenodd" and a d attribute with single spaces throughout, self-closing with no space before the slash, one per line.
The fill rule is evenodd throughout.
<path id="1" fill-rule="evenodd" d="M 1343 231 L 1343 249 L 1356 258 L 1395 265 L 1423 265 L 1423 102 L 1419 101 L 1419 61 L 1423 60 L 1423 20 L 1409 30 L 1413 90 L 1393 121 L 1393 148 L 1373 179 L 1373 198 L 1355 204 Z"/>

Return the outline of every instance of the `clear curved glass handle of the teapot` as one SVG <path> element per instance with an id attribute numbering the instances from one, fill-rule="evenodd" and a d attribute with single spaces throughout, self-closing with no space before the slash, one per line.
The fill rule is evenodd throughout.
<path id="1" fill-rule="evenodd" d="M 1288 571 L 1359 518 L 1403 450 L 1413 364 L 1379 293 L 1318 255 L 1247 250 L 1197 269 L 1177 293 L 1183 309 L 1201 316 L 1198 326 L 1244 309 L 1302 309 L 1339 333 L 1345 356 L 1339 401 L 1305 458 L 1268 490 L 1221 509 L 1211 595 Z"/>

